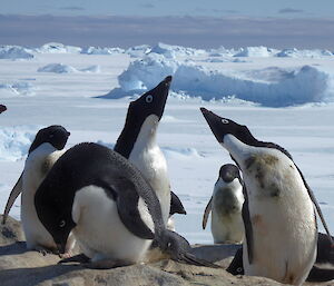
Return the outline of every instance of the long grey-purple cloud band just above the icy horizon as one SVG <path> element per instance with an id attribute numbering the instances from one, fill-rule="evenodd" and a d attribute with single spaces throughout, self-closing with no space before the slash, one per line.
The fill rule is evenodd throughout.
<path id="1" fill-rule="evenodd" d="M 305 29 L 307 27 L 307 29 Z M 333 49 L 334 19 L 246 17 L 1 16 L 0 45 L 132 47 L 159 41 L 196 48 Z"/>

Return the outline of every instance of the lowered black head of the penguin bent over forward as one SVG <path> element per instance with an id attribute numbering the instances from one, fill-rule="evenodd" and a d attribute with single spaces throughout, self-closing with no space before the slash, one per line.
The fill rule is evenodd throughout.
<path id="1" fill-rule="evenodd" d="M 71 204 L 69 197 L 61 197 L 60 194 L 48 191 L 48 186 L 43 183 L 35 195 L 37 215 L 61 254 L 65 253 L 68 236 L 76 226 L 71 216 Z"/>

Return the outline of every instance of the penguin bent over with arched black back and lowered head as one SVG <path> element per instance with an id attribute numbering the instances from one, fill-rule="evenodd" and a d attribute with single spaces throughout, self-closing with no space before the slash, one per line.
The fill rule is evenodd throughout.
<path id="1" fill-rule="evenodd" d="M 107 147 L 86 142 L 70 148 L 38 188 L 35 205 L 60 253 L 72 231 L 91 258 L 89 267 L 139 263 L 153 239 L 175 260 L 212 266 L 190 254 L 185 238 L 166 229 L 151 186 Z"/>

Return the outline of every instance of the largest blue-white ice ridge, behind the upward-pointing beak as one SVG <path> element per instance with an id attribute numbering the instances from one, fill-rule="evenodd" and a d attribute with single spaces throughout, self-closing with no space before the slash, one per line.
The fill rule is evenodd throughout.
<path id="1" fill-rule="evenodd" d="M 333 98 L 328 90 L 332 76 L 315 67 L 293 69 L 277 67 L 250 71 L 210 70 L 200 65 L 165 58 L 150 53 L 131 62 L 119 77 L 124 92 L 148 90 L 164 77 L 173 75 L 171 89 L 204 100 L 226 97 L 261 103 L 268 107 L 286 107 L 320 102 Z M 109 96 L 112 95 L 112 91 Z"/>

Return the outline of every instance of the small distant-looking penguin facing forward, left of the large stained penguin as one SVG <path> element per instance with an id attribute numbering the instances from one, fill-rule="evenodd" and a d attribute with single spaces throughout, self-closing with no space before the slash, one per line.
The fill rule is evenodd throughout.
<path id="1" fill-rule="evenodd" d="M 212 213 L 212 234 L 215 244 L 240 244 L 244 239 L 242 208 L 244 204 L 240 172 L 237 166 L 225 164 L 203 216 L 205 229 Z"/>

